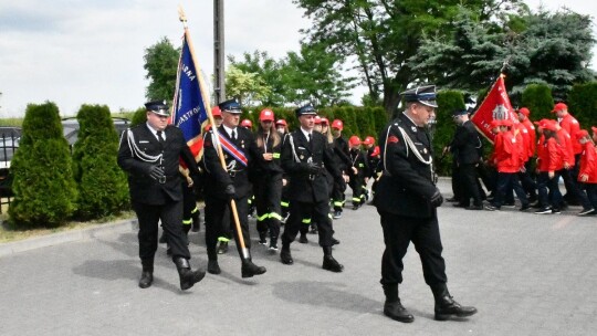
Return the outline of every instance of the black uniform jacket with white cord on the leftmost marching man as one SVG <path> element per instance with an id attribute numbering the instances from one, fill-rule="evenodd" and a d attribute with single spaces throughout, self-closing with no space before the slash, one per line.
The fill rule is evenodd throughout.
<path id="1" fill-rule="evenodd" d="M 182 132 L 171 125 L 164 130 L 166 135 L 164 148 L 146 123 L 130 128 L 133 143 L 129 144 L 128 130 L 123 132 L 118 149 L 118 166 L 128 174 L 130 200 L 147 204 L 164 204 L 168 200 L 182 199 L 179 158 L 182 158 L 193 176 L 199 174 Z M 135 153 L 136 147 L 139 151 Z M 153 161 L 147 157 L 163 154 L 161 160 Z M 149 177 L 151 166 L 158 165 L 164 169 L 166 180 L 160 183 Z"/>

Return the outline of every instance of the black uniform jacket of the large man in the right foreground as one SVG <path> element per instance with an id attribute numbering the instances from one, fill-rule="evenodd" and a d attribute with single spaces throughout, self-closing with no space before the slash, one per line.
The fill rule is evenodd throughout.
<path id="1" fill-rule="evenodd" d="M 434 208 L 430 203 L 436 192 L 431 166 L 421 160 L 407 145 L 399 127 L 410 137 L 426 161 L 432 157 L 431 141 L 423 127 L 417 127 L 400 114 L 379 135 L 379 149 L 384 174 L 379 179 L 375 206 L 378 211 L 410 218 L 430 218 Z"/>

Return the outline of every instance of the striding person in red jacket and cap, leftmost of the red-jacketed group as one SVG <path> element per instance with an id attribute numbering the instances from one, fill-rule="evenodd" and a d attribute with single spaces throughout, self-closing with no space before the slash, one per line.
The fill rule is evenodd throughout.
<path id="1" fill-rule="evenodd" d="M 495 198 L 485 209 L 490 211 L 500 210 L 507 193 L 512 189 L 521 200 L 521 211 L 530 208 L 528 199 L 519 180 L 517 172 L 521 169 L 521 146 L 522 136 L 517 136 L 512 128 L 514 124 L 510 119 L 502 120 L 501 133 L 496 134 L 494 143 L 494 160 L 498 167 L 498 183 L 495 186 Z M 519 138 L 516 138 L 519 137 Z"/>

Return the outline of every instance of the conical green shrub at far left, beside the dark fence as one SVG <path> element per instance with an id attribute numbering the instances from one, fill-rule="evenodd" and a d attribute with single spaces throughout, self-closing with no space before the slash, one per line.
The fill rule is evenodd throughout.
<path id="1" fill-rule="evenodd" d="M 27 106 L 11 170 L 14 200 L 9 216 L 17 227 L 57 227 L 76 210 L 71 151 L 54 103 Z"/>

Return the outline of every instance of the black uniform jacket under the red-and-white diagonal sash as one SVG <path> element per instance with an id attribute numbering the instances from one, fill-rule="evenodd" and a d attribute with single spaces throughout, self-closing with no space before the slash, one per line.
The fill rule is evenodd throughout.
<path id="1" fill-rule="evenodd" d="M 203 165 L 207 174 L 205 190 L 206 193 L 220 199 L 227 198 L 223 190 L 229 185 L 234 185 L 237 191 L 235 198 L 248 197 L 252 192 L 252 185 L 249 181 L 249 170 L 254 169 L 255 143 L 253 134 L 244 127 L 237 127 L 235 130 L 237 140 L 234 141 L 230 138 L 223 126 L 218 128 L 221 137 L 227 138 L 244 154 L 248 159 L 248 166 L 243 166 L 240 160 L 237 160 L 222 148 L 228 172 L 222 168 L 220 158 L 218 157 L 213 141 L 213 132 L 210 130 L 203 136 Z"/>

